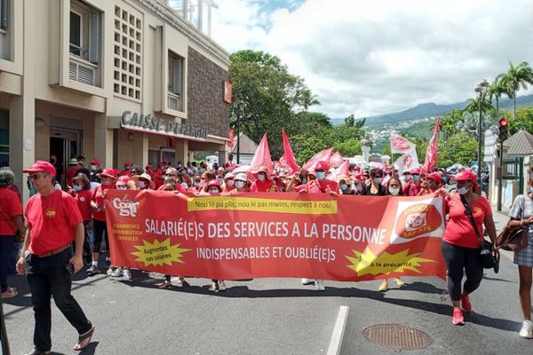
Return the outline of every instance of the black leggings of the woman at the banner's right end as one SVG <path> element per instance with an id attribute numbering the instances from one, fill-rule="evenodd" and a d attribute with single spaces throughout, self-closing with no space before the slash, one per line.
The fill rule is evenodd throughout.
<path id="1" fill-rule="evenodd" d="M 470 294 L 480 287 L 483 279 L 480 250 L 458 247 L 442 241 L 442 256 L 448 268 L 448 292 L 452 301 L 461 299 L 461 290 Z M 463 270 L 465 272 L 463 272 Z M 463 275 L 466 273 L 465 285 L 461 288 Z"/>

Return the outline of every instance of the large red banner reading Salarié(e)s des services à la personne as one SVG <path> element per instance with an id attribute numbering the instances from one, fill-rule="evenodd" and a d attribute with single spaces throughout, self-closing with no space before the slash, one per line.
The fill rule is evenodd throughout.
<path id="1" fill-rule="evenodd" d="M 442 198 L 110 190 L 113 264 L 220 280 L 445 278 Z"/>

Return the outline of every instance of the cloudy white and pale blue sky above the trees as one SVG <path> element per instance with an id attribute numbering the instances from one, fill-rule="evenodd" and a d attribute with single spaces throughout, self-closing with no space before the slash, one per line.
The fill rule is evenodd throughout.
<path id="1" fill-rule="evenodd" d="M 215 3 L 215 41 L 278 56 L 322 102 L 314 111 L 330 117 L 463 101 L 508 59 L 533 65 L 531 0 Z"/>

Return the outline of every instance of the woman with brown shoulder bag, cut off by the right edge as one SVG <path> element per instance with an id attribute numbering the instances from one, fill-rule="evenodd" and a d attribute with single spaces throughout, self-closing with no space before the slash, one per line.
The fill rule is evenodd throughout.
<path id="1" fill-rule="evenodd" d="M 525 227 L 528 233 L 528 246 L 514 252 L 514 264 L 518 264 L 520 278 L 520 304 L 524 320 L 520 331 L 523 338 L 533 338 L 531 322 L 531 274 L 533 271 L 533 170 L 529 175 L 527 193 L 516 196 L 509 211 L 509 227 Z"/>

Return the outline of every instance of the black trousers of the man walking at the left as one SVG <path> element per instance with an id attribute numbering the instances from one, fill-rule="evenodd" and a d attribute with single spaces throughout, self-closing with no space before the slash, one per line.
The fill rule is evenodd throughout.
<path id="1" fill-rule="evenodd" d="M 71 257 L 70 248 L 52 256 L 39 257 L 32 254 L 26 256 L 26 278 L 36 319 L 34 345 L 38 351 L 50 351 L 52 348 L 51 297 L 78 334 L 91 330 L 91 322 L 85 317 L 74 296 L 70 294 L 71 274 L 65 265 Z"/>

